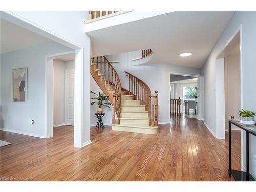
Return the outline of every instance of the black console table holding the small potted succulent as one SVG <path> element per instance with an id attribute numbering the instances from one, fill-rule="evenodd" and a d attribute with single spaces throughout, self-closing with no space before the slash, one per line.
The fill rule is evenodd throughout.
<path id="1" fill-rule="evenodd" d="M 246 172 L 241 170 L 234 170 L 231 168 L 231 124 L 238 126 L 240 129 L 246 131 Z M 228 156 L 229 156 L 229 177 L 233 176 L 236 181 L 255 181 L 249 173 L 249 134 L 256 136 L 256 126 L 246 125 L 239 121 L 228 121 Z"/>

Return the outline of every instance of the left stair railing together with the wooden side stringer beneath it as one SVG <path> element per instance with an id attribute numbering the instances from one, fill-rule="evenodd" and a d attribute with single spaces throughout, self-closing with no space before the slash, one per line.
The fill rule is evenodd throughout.
<path id="1" fill-rule="evenodd" d="M 91 59 L 91 74 L 98 86 L 109 96 L 109 100 L 113 105 L 112 123 L 120 124 L 121 116 L 121 81 L 119 76 L 105 56 L 93 57 Z"/>

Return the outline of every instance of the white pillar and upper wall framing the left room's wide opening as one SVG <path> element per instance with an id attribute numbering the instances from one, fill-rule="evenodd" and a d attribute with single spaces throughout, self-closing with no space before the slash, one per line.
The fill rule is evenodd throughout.
<path id="1" fill-rule="evenodd" d="M 65 39 L 66 42 L 74 43 L 82 48 L 83 59 L 79 59 L 82 62 L 83 70 L 76 71 L 76 73 L 82 73 L 82 144 L 75 141 L 75 146 L 84 146 L 90 143 L 90 57 L 91 57 L 91 38 L 84 33 L 86 26 L 83 24 L 83 20 L 86 20 L 89 16 L 88 11 L 13 11 L 14 15 L 19 19 L 28 20 L 29 22 L 36 24 L 42 29 L 47 29 L 52 34 Z M 55 36 L 49 35 L 49 38 Z M 61 43 L 65 44 L 64 41 Z M 80 65 L 80 63 L 78 63 Z M 80 76 L 80 74 L 79 74 Z M 75 77 L 75 78 L 76 78 Z M 77 83 L 77 85 L 80 85 Z M 75 85 L 76 87 L 76 85 Z M 79 88 L 80 89 L 80 88 Z M 79 97 L 79 96 L 78 96 Z M 75 117 L 76 118 L 76 117 Z M 76 121 L 75 121 L 76 123 Z M 80 135 L 75 134 L 75 139 Z"/>

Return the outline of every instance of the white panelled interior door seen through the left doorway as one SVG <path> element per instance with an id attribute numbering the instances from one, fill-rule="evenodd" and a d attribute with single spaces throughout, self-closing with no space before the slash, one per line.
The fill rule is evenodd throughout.
<path id="1" fill-rule="evenodd" d="M 66 70 L 66 124 L 74 126 L 74 70 Z"/>

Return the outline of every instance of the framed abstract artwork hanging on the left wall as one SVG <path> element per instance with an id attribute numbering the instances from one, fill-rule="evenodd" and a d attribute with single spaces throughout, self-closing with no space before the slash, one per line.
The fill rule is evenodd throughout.
<path id="1" fill-rule="evenodd" d="M 12 70 L 12 101 L 27 102 L 27 68 Z"/>

